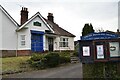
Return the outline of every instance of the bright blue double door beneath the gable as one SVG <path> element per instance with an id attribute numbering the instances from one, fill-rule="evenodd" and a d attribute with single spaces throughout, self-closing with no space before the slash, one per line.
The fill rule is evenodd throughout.
<path id="1" fill-rule="evenodd" d="M 31 50 L 32 52 L 43 52 L 43 34 L 31 34 Z"/>

